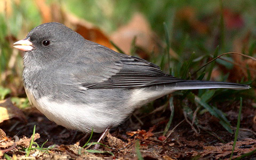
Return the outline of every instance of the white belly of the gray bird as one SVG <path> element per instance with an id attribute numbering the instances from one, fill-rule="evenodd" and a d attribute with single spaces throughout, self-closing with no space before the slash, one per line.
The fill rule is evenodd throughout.
<path id="1" fill-rule="evenodd" d="M 80 130 L 82 132 L 103 132 L 110 126 L 116 126 L 125 119 L 118 117 L 118 113 L 107 114 L 102 107 L 105 104 L 74 105 L 67 102 L 53 102 L 47 97 L 36 100 L 31 91 L 26 90 L 29 102 L 34 105 L 51 121 L 68 129 Z M 97 108 L 97 109 L 96 109 Z M 115 117 L 115 118 L 114 118 Z"/>

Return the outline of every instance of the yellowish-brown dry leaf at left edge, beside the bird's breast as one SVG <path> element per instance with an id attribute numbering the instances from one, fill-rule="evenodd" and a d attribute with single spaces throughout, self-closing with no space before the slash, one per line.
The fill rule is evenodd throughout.
<path id="1" fill-rule="evenodd" d="M 1 100 L 0 101 L 0 123 L 2 123 L 5 120 L 12 119 L 14 117 L 27 123 L 26 116 L 23 114 L 20 108 L 12 104 L 10 98 Z"/>

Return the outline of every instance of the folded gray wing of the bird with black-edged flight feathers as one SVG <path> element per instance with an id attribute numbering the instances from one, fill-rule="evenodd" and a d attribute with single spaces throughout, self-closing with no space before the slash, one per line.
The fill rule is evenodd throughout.
<path id="1" fill-rule="evenodd" d="M 86 89 L 134 88 L 185 81 L 163 73 L 157 65 L 141 58 L 115 53 L 108 48 L 103 50 L 105 54 L 98 58 L 95 51 L 93 56 L 87 53 L 87 62 L 81 62 L 79 67 L 76 67 L 80 69 L 73 72 Z"/>

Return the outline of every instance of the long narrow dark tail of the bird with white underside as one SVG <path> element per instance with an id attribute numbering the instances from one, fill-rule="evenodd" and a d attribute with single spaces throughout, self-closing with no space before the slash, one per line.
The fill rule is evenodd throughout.
<path id="1" fill-rule="evenodd" d="M 228 88 L 228 89 L 250 89 L 248 85 L 229 82 L 197 81 L 187 80 L 173 83 L 174 90 L 181 89 L 207 89 L 207 88 Z"/>

